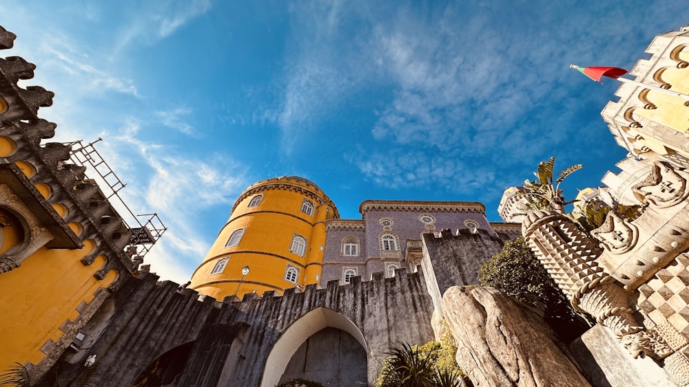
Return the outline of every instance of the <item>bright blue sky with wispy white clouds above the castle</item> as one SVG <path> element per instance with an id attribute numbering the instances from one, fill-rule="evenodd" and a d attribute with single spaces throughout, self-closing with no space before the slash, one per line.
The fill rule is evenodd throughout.
<path id="1" fill-rule="evenodd" d="M 539 161 L 582 163 L 597 186 L 626 154 L 599 112 L 686 1 L 3 0 L 3 56 L 56 93 L 55 141 L 103 137 L 135 213 L 169 230 L 146 257 L 185 282 L 238 194 L 281 175 L 316 181 L 343 218 L 365 199 L 482 201 Z M 608 3 L 610 5 L 608 5 Z"/>

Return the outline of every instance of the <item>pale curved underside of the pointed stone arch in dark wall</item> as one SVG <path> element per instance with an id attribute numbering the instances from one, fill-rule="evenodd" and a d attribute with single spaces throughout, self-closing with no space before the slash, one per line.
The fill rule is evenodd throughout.
<path id="1" fill-rule="evenodd" d="M 289 360 L 291 360 L 292 355 L 294 355 L 299 346 L 311 335 L 327 327 L 338 328 L 349 333 L 361 344 L 366 353 L 369 352 L 364 335 L 356 324 L 332 309 L 318 307 L 298 318 L 285 330 L 285 333 L 280 335 L 265 362 L 260 386 L 276 386 L 280 381 L 282 373 L 285 372 L 287 363 L 289 363 Z"/>

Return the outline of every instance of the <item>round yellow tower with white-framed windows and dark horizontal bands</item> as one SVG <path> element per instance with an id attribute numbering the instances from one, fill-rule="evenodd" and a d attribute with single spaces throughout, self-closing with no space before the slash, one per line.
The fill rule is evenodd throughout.
<path id="1" fill-rule="evenodd" d="M 189 287 L 222 300 L 318 283 L 325 221 L 339 217 L 313 181 L 298 176 L 259 181 L 234 203 Z"/>

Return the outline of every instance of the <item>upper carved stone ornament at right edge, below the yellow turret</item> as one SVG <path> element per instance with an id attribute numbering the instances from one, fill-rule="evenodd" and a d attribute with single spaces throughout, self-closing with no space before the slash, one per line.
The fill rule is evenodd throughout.
<path id="1" fill-rule="evenodd" d="M 666 208 L 675 206 L 689 194 L 687 179 L 689 174 L 675 170 L 666 162 L 655 162 L 644 181 L 632 187 L 634 195 L 644 203 Z"/>

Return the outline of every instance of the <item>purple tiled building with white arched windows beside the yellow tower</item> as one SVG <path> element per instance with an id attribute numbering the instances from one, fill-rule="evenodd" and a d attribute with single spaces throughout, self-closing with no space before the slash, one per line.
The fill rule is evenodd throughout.
<path id="1" fill-rule="evenodd" d="M 485 207 L 475 201 L 367 200 L 359 206 L 362 219 L 330 219 L 320 284 L 339 280 L 347 284 L 354 276 L 369 280 L 376 272 L 389 278 L 395 269 L 416 272 L 423 257 L 423 234 L 440 236 L 484 230 L 515 238 L 520 230 L 510 223 L 489 223 Z"/>

